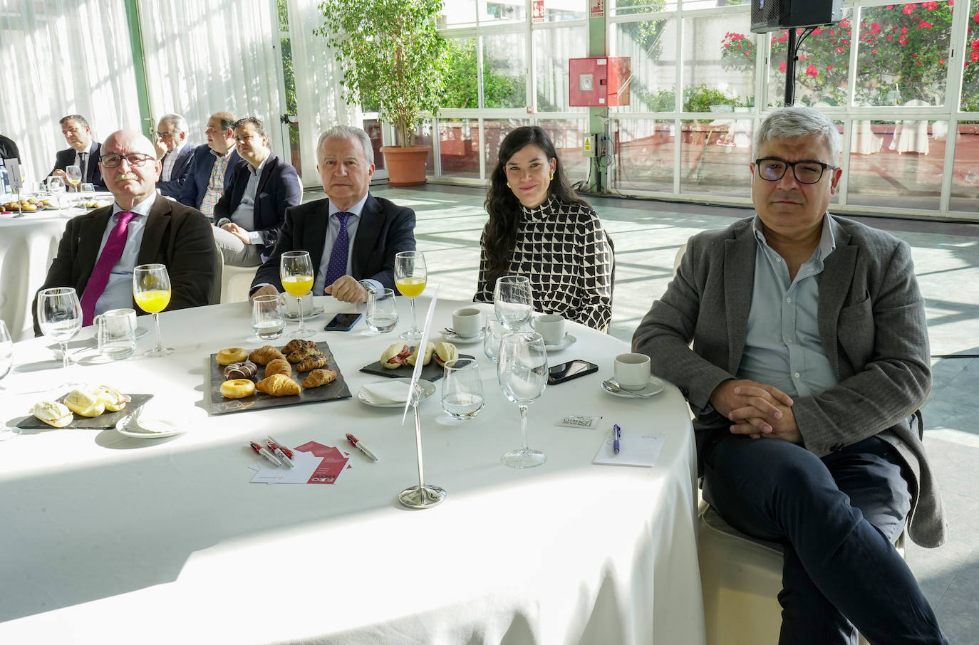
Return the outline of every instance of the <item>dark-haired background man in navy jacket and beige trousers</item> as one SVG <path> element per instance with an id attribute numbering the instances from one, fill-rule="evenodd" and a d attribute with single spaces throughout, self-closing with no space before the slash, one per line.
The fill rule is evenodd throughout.
<path id="1" fill-rule="evenodd" d="M 235 123 L 235 142 L 244 161 L 214 207 L 214 241 L 226 263 L 258 266 L 275 248 L 286 208 L 300 203 L 300 180 L 268 149 L 268 133 L 255 116 Z"/>

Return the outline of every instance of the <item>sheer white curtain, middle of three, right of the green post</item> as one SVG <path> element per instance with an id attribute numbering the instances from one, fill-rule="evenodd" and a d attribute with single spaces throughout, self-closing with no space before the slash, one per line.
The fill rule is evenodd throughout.
<path id="1" fill-rule="evenodd" d="M 154 126 L 183 115 L 196 146 L 213 113 L 256 115 L 272 150 L 289 159 L 275 0 L 139 0 L 139 12 Z"/>

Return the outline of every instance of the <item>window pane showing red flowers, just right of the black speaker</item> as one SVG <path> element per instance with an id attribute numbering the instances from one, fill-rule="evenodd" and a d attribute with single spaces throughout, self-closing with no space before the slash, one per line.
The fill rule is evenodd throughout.
<path id="1" fill-rule="evenodd" d="M 948 2 L 867 7 L 861 11 L 857 105 L 945 105 L 952 7 Z"/>

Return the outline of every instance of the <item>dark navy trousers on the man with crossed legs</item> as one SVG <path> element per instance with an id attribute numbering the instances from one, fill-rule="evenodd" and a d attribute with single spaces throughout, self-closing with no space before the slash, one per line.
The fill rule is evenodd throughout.
<path id="1" fill-rule="evenodd" d="M 890 444 L 866 438 L 820 459 L 724 433 L 703 458 L 704 498 L 723 519 L 785 547 L 780 644 L 856 644 L 856 629 L 874 644 L 948 644 L 893 545 L 910 494 Z"/>

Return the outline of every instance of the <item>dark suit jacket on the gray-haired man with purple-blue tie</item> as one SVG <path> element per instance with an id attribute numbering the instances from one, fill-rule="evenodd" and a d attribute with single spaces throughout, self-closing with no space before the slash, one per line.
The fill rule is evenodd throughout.
<path id="1" fill-rule="evenodd" d="M 308 251 L 313 272 L 319 270 L 326 241 L 329 200 L 317 200 L 286 211 L 286 223 L 275 251 L 256 271 L 256 285 L 275 285 L 282 291 L 279 279 L 279 257 L 287 251 Z M 377 280 L 388 289 L 395 288 L 395 255 L 415 250 L 415 211 L 399 207 L 385 199 L 367 196 L 357 234 L 350 251 L 350 272 L 357 280 Z M 322 296 L 322 294 L 314 294 Z"/>

